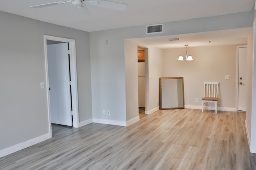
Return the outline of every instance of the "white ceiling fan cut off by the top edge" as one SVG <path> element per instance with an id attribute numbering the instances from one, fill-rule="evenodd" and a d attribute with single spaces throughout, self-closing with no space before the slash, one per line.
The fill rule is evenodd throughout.
<path id="1" fill-rule="evenodd" d="M 52 3 L 48 3 L 48 4 L 35 5 L 35 6 L 30 6 L 30 7 L 31 8 L 43 8 L 43 7 L 47 7 L 47 6 L 65 4 L 68 2 L 72 2 L 72 4 L 76 8 L 87 7 L 86 4 L 98 6 L 101 8 L 108 8 L 111 10 L 118 10 L 118 11 L 124 11 L 127 8 L 127 4 L 120 3 L 120 2 L 112 2 L 112 1 L 108 1 L 108 0 L 66 0 L 66 1 L 52 2 Z"/>

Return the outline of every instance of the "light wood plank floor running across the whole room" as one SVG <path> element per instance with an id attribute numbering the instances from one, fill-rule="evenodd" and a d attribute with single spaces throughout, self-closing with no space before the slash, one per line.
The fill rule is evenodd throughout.
<path id="1" fill-rule="evenodd" d="M 245 113 L 159 110 L 120 127 L 52 125 L 53 138 L 0 158 L 1 170 L 255 170 Z"/>

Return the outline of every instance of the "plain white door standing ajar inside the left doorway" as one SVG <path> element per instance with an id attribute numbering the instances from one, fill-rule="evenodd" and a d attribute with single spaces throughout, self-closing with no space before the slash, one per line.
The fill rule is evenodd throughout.
<path id="1" fill-rule="evenodd" d="M 72 126 L 68 43 L 47 45 L 51 122 Z"/>

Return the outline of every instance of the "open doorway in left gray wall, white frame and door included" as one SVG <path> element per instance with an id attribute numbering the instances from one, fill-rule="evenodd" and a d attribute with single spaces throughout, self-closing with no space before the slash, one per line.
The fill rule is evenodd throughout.
<path id="1" fill-rule="evenodd" d="M 65 60 L 56 58 L 55 51 L 65 51 L 64 53 L 66 54 L 64 55 L 67 55 L 67 58 Z M 44 52 L 48 119 L 50 134 L 52 137 L 52 123 L 79 127 L 75 40 L 44 35 Z M 62 74 L 66 77 L 64 80 L 65 82 L 62 80 L 63 78 L 60 78 L 60 75 Z M 65 87 L 63 87 L 62 84 L 65 84 Z M 52 91 L 50 92 L 50 90 Z M 59 101 L 57 99 L 68 102 L 63 103 L 63 101 Z M 70 120 L 66 121 L 64 120 L 66 118 L 58 117 L 60 115 L 51 113 L 51 111 L 59 109 L 60 107 L 63 108 L 59 111 L 67 111 L 66 114 L 68 114 Z"/>

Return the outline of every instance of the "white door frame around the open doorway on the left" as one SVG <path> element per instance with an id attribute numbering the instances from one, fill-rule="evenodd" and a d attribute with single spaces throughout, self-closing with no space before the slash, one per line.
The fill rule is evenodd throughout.
<path id="1" fill-rule="evenodd" d="M 76 73 L 76 41 L 74 39 L 67 39 L 62 37 L 54 37 L 44 35 L 44 58 L 45 58 L 45 74 L 46 74 L 46 93 L 47 93 L 47 107 L 49 130 L 52 137 L 51 113 L 50 113 L 50 92 L 49 92 L 49 75 L 48 75 L 48 57 L 47 57 L 47 40 L 61 41 L 69 43 L 70 51 L 70 76 L 71 76 L 71 93 L 72 93 L 72 115 L 73 127 L 79 127 L 79 113 L 78 113 L 78 88 L 77 88 L 77 73 Z"/>

